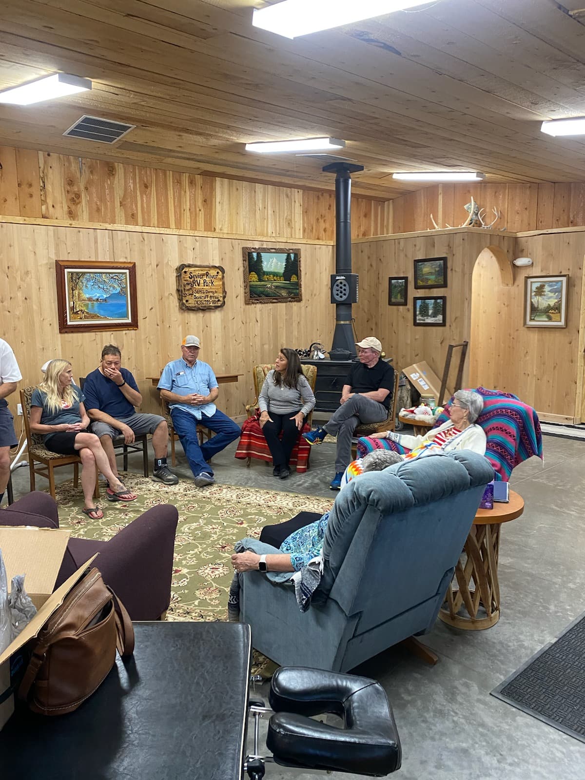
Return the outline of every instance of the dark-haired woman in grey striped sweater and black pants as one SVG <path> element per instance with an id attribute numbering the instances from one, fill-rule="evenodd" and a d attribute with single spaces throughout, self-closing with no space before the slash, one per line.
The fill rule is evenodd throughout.
<path id="1" fill-rule="evenodd" d="M 314 410 L 315 396 L 300 367 L 294 349 L 283 347 L 269 371 L 258 397 L 260 427 L 270 449 L 273 474 L 290 476 L 289 459 L 303 430 L 305 417 Z M 278 434 L 282 431 L 282 439 Z"/>

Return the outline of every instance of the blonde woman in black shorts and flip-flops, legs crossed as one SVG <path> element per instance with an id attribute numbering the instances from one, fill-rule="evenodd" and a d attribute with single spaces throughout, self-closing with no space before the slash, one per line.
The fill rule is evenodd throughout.
<path id="1" fill-rule="evenodd" d="M 112 473 L 108 456 L 95 434 L 87 433 L 90 418 L 83 406 L 83 392 L 73 384 L 73 369 L 68 360 L 51 360 L 44 381 L 33 392 L 30 402 L 30 430 L 44 435 L 44 445 L 61 455 L 79 455 L 81 487 L 85 505 L 83 514 L 92 520 L 104 516 L 93 499 L 95 467 L 108 480 L 108 501 L 134 501 L 136 493 L 126 490 Z"/>

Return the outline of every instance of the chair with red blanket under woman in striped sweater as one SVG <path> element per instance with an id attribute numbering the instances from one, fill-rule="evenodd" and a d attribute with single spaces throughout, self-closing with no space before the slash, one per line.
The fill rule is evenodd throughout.
<path id="1" fill-rule="evenodd" d="M 254 392 L 256 398 L 253 402 L 246 404 L 246 413 L 248 414 L 248 420 L 244 422 L 242 427 L 242 436 L 239 439 L 238 447 L 236 449 L 236 458 L 247 459 L 246 466 L 250 468 L 252 458 L 257 460 L 264 460 L 267 466 L 272 463 L 272 456 L 262 429 L 257 420 L 254 419 L 256 414 L 256 408 L 258 405 L 258 396 L 264 385 L 264 379 L 268 374 L 268 371 L 274 368 L 274 365 L 264 363 L 263 365 L 254 366 L 252 375 L 254 377 Z M 311 390 L 315 389 L 315 382 L 317 381 L 317 368 L 315 366 L 302 365 L 303 374 L 309 382 Z M 311 421 L 313 420 L 313 413 L 310 412 L 307 415 L 305 426 L 303 427 L 303 433 L 310 431 Z M 298 473 L 303 473 L 309 468 L 310 457 L 310 444 L 305 441 L 301 436 L 293 448 L 293 452 L 290 456 L 291 466 L 296 466 Z"/>

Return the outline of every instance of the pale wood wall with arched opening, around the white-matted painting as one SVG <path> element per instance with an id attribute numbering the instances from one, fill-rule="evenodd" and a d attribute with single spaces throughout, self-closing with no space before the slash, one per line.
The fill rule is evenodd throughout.
<path id="1" fill-rule="evenodd" d="M 514 257 L 534 265 L 513 268 L 502 284 L 494 257 L 480 256 L 473 271 L 470 382 L 513 392 L 545 417 L 583 419 L 582 285 L 585 230 L 518 236 Z M 527 276 L 569 275 L 566 328 L 525 328 Z M 555 419 L 551 417 L 550 419 Z"/>

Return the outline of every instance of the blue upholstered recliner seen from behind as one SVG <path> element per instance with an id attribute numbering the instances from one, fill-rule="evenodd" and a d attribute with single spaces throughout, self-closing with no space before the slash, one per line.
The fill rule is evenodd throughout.
<path id="1" fill-rule="evenodd" d="M 357 477 L 335 500 L 307 612 L 290 583 L 246 573 L 240 620 L 252 626 L 254 647 L 280 665 L 346 672 L 429 632 L 493 478 L 469 450 Z"/>

